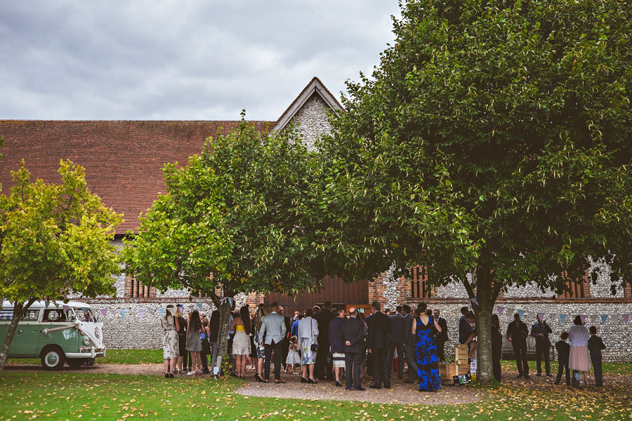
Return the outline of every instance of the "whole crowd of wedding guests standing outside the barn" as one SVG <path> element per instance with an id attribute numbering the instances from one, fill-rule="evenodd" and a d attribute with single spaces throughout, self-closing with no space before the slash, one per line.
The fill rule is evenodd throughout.
<path id="1" fill-rule="evenodd" d="M 234 305 L 233 305 L 234 307 Z M 254 310 L 251 312 L 251 310 Z M 183 316 L 183 307 L 167 306 L 161 319 L 165 377 L 174 374 L 218 374 L 218 332 L 220 315 L 217 310 L 210 319 L 198 310 Z M 459 343 L 468 345 L 468 356 L 477 356 L 477 329 L 475 314 L 469 307 L 461 309 Z M 578 323 L 579 322 L 579 323 Z M 336 307 L 331 302 L 314 306 L 294 314 L 284 314 L 284 308 L 276 302 L 260 304 L 256 309 L 244 305 L 235 312 L 232 309 L 228 323 L 228 354 L 230 375 L 244 379 L 246 368 L 254 370 L 257 382 L 284 383 L 284 374 L 300 374 L 301 382 L 316 384 L 333 382 L 336 387 L 364 390 L 362 380 L 372 377 L 369 387 L 391 387 L 391 376 L 419 385 L 420 391 L 440 389 L 441 378 L 438 363 L 445 362 L 445 342 L 448 340 L 447 321 L 439 309 L 428 309 L 421 302 L 414 309 L 408 305 L 397 306 L 394 311 L 384 310 L 380 302 L 373 302 L 370 309 Z M 593 330 L 595 330 L 593 332 Z M 541 361 L 545 373 L 551 376 L 548 335 L 552 333 L 546 321 L 536 319 L 531 332 L 515 314 L 509 323 L 506 337 L 511 342 L 520 377 L 529 376 L 527 365 L 527 336 L 536 342 L 537 375 L 541 375 Z M 570 340 L 570 344 L 566 340 Z M 492 366 L 496 380 L 501 380 L 503 335 L 499 317 L 492 316 Z M 584 375 L 590 369 L 588 349 L 595 371 L 596 385 L 603 385 L 601 375 L 601 349 L 603 341 L 596 336 L 596 329 L 588 332 L 577 316 L 574 326 L 561 335 L 555 344 L 558 349 L 560 368 L 555 384 L 560 383 L 566 370 L 566 382 L 570 384 L 570 370 Z M 408 370 L 404 380 L 404 363 Z M 274 377 L 271 378 L 270 371 Z M 342 379 L 345 379 L 344 385 Z"/>

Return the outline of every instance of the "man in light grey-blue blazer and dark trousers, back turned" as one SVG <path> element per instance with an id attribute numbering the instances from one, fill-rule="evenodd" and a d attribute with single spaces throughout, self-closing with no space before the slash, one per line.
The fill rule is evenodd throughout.
<path id="1" fill-rule="evenodd" d="M 259 342 L 259 345 L 265 347 L 263 382 L 270 382 L 270 359 L 272 359 L 272 351 L 274 351 L 275 383 L 284 383 L 285 380 L 281 380 L 281 356 L 283 354 L 282 344 L 286 332 L 285 319 L 279 314 L 279 304 L 277 302 L 272 302 L 270 310 L 270 314 L 263 316 L 263 319 L 261 319 L 261 328 L 258 332 L 260 340 L 263 341 Z"/>

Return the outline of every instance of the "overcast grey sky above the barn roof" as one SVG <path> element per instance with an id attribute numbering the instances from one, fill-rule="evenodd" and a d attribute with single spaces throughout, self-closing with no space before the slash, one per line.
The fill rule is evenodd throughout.
<path id="1" fill-rule="evenodd" d="M 0 119 L 276 120 L 313 76 L 340 98 L 397 0 L 0 1 Z"/>

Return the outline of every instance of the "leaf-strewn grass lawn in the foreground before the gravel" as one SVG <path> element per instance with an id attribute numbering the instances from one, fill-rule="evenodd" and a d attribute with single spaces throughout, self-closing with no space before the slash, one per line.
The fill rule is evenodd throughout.
<path id="1" fill-rule="evenodd" d="M 484 387 L 490 399 L 449 406 L 402 406 L 235 394 L 239 380 L 11 372 L 0 377 L 0 421 L 67 420 L 624 420 L 626 385 L 604 391 Z M 273 387 L 273 386 L 272 386 Z M 442 391 L 437 392 L 442 393 Z"/>

